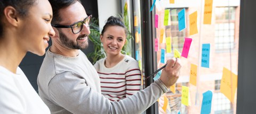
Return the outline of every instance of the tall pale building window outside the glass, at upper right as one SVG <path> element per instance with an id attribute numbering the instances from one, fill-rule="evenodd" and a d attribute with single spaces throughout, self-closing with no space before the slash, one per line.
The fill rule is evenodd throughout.
<path id="1" fill-rule="evenodd" d="M 235 7 L 215 7 L 215 50 L 217 52 L 228 51 L 236 46 L 235 14 Z"/>

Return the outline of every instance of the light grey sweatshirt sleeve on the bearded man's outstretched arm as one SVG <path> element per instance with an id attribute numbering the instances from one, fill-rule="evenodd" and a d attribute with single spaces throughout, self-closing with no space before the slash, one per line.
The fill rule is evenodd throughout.
<path id="1" fill-rule="evenodd" d="M 86 83 L 84 78 L 65 72 L 52 78 L 48 94 L 52 102 L 72 113 L 141 113 L 168 91 L 158 79 L 129 98 L 111 102 Z"/>

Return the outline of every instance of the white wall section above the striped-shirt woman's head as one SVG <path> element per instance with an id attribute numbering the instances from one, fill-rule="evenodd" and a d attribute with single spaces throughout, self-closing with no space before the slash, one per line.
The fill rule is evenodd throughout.
<path id="1" fill-rule="evenodd" d="M 98 0 L 99 26 L 103 29 L 109 16 L 121 14 L 121 3 L 119 0 Z"/>

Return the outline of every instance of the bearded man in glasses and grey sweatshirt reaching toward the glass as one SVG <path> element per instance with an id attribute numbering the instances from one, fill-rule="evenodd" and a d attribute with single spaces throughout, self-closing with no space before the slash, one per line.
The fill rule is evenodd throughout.
<path id="1" fill-rule="evenodd" d="M 51 113 L 141 113 L 179 78 L 180 59 L 170 59 L 146 89 L 111 102 L 100 91 L 97 71 L 80 49 L 88 46 L 91 15 L 79 0 L 49 0 L 56 33 L 38 74 L 38 91 Z"/>

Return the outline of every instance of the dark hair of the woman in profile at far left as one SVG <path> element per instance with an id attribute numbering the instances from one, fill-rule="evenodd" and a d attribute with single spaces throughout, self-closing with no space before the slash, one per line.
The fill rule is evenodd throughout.
<path id="1" fill-rule="evenodd" d="M 4 8 L 7 6 L 12 6 L 17 10 L 18 15 L 25 17 L 28 14 L 28 10 L 31 6 L 35 5 L 36 0 L 0 0 L 0 36 L 3 35 L 3 16 Z"/>

